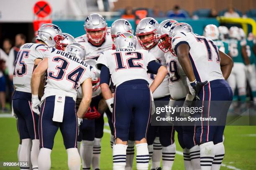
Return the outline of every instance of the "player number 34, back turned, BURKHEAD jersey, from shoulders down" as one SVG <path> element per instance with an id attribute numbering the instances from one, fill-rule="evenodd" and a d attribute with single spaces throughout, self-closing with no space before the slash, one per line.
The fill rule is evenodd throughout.
<path id="1" fill-rule="evenodd" d="M 69 47 L 67 46 L 67 48 Z M 83 51 L 73 51 L 73 53 L 81 52 Z M 40 77 L 46 71 L 47 80 L 44 96 L 40 102 L 38 99 Z M 55 48 L 48 51 L 44 60 L 38 64 L 33 72 L 31 79 L 31 107 L 33 111 L 39 114 L 38 106 L 41 104 L 38 122 L 41 148 L 38 155 L 38 169 L 49 170 L 51 168 L 51 150 L 58 129 L 61 130 L 67 150 L 69 169 L 80 169 L 81 160 L 77 150 L 77 117 L 82 118 L 90 105 L 92 97 L 91 77 L 90 66 L 84 61 L 73 54 Z M 78 112 L 76 112 L 76 90 L 80 84 L 83 97 Z"/>

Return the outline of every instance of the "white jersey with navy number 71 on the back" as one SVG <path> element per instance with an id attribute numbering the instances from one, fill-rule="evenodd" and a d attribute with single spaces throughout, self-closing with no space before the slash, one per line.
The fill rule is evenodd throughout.
<path id="1" fill-rule="evenodd" d="M 177 33 L 172 38 L 172 49 L 176 52 L 181 43 L 189 45 L 189 58 L 197 81 L 224 79 L 220 70 L 218 47 L 210 38 L 195 33 Z"/>

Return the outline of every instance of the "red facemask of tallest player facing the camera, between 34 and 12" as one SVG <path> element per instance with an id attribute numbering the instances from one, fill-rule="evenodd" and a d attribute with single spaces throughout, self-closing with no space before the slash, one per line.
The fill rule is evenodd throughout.
<path id="1" fill-rule="evenodd" d="M 88 41 L 90 41 L 90 43 L 92 43 L 94 46 L 100 46 L 106 38 L 107 26 L 98 29 L 85 28 L 85 30 Z"/>

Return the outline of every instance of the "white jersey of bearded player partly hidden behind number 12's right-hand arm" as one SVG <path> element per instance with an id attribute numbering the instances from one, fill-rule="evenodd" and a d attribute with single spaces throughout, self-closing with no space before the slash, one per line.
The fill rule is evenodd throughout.
<path id="1" fill-rule="evenodd" d="M 137 42 L 136 49 L 143 49 L 140 43 Z M 157 59 L 157 61 L 166 66 L 166 59 L 164 58 L 164 51 L 162 51 L 157 45 L 149 50 L 149 52 Z M 149 86 L 153 83 L 155 79 L 155 74 L 148 73 L 149 78 Z M 157 89 L 153 93 L 154 99 L 158 99 L 164 96 L 169 96 L 169 88 L 168 88 L 168 76 L 166 76 L 163 82 L 157 87 Z"/>

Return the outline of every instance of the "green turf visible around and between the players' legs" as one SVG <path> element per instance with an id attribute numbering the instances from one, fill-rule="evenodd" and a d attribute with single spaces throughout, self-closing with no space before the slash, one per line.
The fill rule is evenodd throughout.
<path id="1" fill-rule="evenodd" d="M 109 127 L 105 126 L 105 129 Z M 112 169 L 112 150 L 110 148 L 110 134 L 105 130 L 102 138 L 100 159 L 101 170 Z M 0 162 L 17 162 L 18 132 L 16 119 L 0 118 Z M 177 135 L 176 135 L 177 141 Z M 221 170 L 256 170 L 256 127 L 228 126 L 225 129 L 225 157 Z M 176 142 L 177 151 L 182 151 Z M 173 170 L 184 170 L 181 152 L 176 154 Z M 67 170 L 67 153 L 63 145 L 61 133 L 58 131 L 51 153 L 51 167 L 53 170 Z M 134 163 L 134 167 L 136 164 Z M 17 167 L 0 167 L 0 170 L 14 170 Z M 136 168 L 134 168 L 135 170 Z"/>

